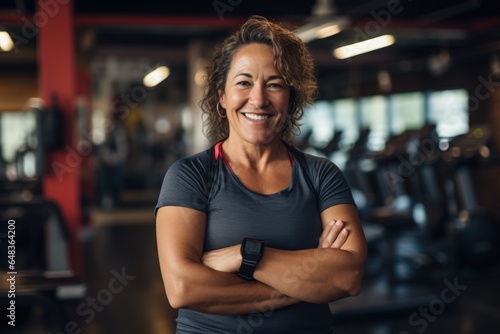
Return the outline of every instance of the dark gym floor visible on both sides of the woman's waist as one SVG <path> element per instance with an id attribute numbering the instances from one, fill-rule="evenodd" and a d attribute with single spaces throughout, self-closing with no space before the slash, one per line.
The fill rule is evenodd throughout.
<path id="1" fill-rule="evenodd" d="M 68 322 L 77 324 L 66 333 L 174 333 L 176 313 L 166 300 L 158 268 L 155 199 L 154 193 L 131 196 L 124 208 L 92 212 L 83 233 L 87 291 L 83 302 L 65 306 Z M 390 285 L 377 269 L 383 268 L 380 257 L 373 254 L 368 262 L 361 294 L 331 304 L 336 334 L 497 332 L 498 268 L 455 274 L 432 270 L 424 273 L 425 281 Z M 47 333 L 36 318 L 25 332 L 16 333 Z"/>

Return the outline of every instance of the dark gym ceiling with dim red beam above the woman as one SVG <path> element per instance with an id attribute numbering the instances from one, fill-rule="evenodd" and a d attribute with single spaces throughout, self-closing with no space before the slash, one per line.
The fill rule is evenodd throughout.
<path id="1" fill-rule="evenodd" d="M 300 27 L 314 18 L 314 6 L 324 2 L 75 0 L 77 43 L 80 48 L 90 49 L 91 55 L 149 54 L 185 63 L 187 45 L 193 39 L 210 45 L 253 14 Z M 3 0 L 0 25 L 19 32 L 22 28 L 19 18 L 31 17 L 34 3 L 35 0 Z M 323 77 L 337 75 L 337 79 L 343 80 L 342 73 L 352 68 L 428 70 L 430 59 L 439 61 L 442 50 L 446 50 L 455 64 L 467 66 L 488 59 L 499 49 L 497 0 L 333 0 L 332 3 L 335 12 L 330 17 L 347 18 L 349 24 L 335 36 L 308 43 L 318 73 Z M 17 17 L 17 25 L 12 17 Z M 332 56 L 336 46 L 383 33 L 394 34 L 396 43 L 350 60 Z M 30 44 L 32 48 L 34 45 Z M 35 52 L 29 51 L 30 46 L 26 46 L 27 56 L 21 52 L 15 56 L 0 54 L 0 68 L 2 64 L 11 67 L 23 59 L 23 66 L 33 61 Z"/>

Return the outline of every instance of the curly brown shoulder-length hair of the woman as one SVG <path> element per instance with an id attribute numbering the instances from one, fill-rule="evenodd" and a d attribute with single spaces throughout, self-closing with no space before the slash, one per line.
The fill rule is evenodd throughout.
<path id="1" fill-rule="evenodd" d="M 210 57 L 205 81 L 205 93 L 200 101 L 204 114 L 204 133 L 210 140 L 219 141 L 229 136 L 229 123 L 217 112 L 219 92 L 226 85 L 226 78 L 236 52 L 245 45 L 260 43 L 271 46 L 276 70 L 290 86 L 290 110 L 281 129 L 280 138 L 293 145 L 300 133 L 299 121 L 304 108 L 314 101 L 317 94 L 314 61 L 305 44 L 283 25 L 262 16 L 250 17 L 239 30 L 217 45 Z"/>

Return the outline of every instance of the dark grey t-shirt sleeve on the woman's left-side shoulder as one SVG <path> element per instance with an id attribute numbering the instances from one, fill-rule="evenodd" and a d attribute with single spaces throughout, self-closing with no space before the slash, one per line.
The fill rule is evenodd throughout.
<path id="1" fill-rule="evenodd" d="M 174 162 L 163 178 L 155 207 L 182 206 L 206 212 L 210 173 L 209 151 Z"/>

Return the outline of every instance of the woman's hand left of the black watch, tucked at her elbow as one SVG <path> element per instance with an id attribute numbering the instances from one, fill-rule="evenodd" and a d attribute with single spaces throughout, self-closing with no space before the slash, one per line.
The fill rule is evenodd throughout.
<path id="1" fill-rule="evenodd" d="M 241 265 L 241 245 L 215 249 L 203 253 L 201 263 L 226 273 L 237 273 Z"/>

